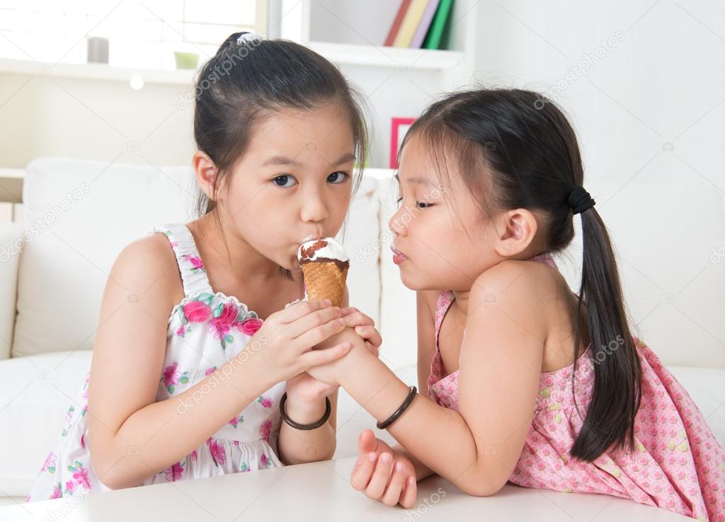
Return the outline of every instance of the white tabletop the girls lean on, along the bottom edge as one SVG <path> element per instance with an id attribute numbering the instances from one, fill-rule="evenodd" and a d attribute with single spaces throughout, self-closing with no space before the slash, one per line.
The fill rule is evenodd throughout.
<path id="1" fill-rule="evenodd" d="M 471 497 L 449 481 L 418 484 L 413 510 L 389 508 L 352 489 L 355 458 L 254 473 L 119 489 L 0 509 L 0 521 L 689 521 L 681 515 L 597 494 L 557 493 L 507 484 Z"/>

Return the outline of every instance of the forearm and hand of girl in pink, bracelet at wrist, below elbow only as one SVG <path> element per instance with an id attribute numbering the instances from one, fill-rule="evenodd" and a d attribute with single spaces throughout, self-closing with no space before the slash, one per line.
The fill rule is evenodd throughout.
<path id="1" fill-rule="evenodd" d="M 343 359 L 347 371 L 339 372 L 340 384 L 373 417 L 384 421 L 407 397 L 407 384 L 355 337 L 346 336 L 344 340 L 352 342 L 354 348 Z M 419 471 L 425 474 L 428 468 L 469 494 L 493 494 L 500 489 L 498 479 L 487 476 L 485 455 L 479 452 L 476 437 L 457 411 L 418 394 L 388 431 L 424 466 L 419 469 L 416 465 L 416 476 Z"/>

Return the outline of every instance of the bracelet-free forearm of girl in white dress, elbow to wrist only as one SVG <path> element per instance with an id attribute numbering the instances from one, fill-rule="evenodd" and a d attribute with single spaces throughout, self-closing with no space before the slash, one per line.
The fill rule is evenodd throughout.
<path id="1" fill-rule="evenodd" d="M 101 482 L 112 489 L 138 486 L 185 458 L 274 384 L 262 381 L 263 372 L 248 363 L 235 361 L 183 393 L 132 413 L 115 433 L 94 423 L 99 432 L 89 430 L 88 439 Z"/>

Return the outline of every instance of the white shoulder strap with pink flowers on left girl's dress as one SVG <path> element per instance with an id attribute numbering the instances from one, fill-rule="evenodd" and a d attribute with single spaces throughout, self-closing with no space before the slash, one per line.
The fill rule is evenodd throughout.
<path id="1" fill-rule="evenodd" d="M 199 257 L 199 251 L 196 250 L 194 236 L 191 235 L 191 231 L 188 230 L 186 224 L 160 224 L 146 232 L 147 236 L 154 234 L 164 234 L 171 243 L 171 248 L 176 254 L 176 262 L 179 266 L 183 292 L 186 298 L 191 298 L 200 293 L 214 293 L 209 284 L 202 258 Z"/>

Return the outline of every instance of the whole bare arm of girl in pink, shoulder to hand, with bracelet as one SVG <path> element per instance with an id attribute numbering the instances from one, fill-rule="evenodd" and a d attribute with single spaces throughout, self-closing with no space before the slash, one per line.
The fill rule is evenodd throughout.
<path id="1" fill-rule="evenodd" d="M 534 415 L 546 330 L 531 299 L 536 282 L 518 263 L 504 261 L 486 271 L 471 291 L 461 348 L 459 411 L 419 395 L 389 427 L 409 455 L 469 494 L 494 494 L 505 484 Z M 496 300 L 486 300 L 489 294 Z M 334 342 L 342 337 L 355 342 L 347 332 Z M 339 361 L 336 376 L 358 403 L 384 420 L 408 390 L 369 355 L 357 343 Z M 349 376 L 352 368 L 355 374 Z"/>

